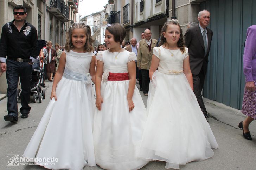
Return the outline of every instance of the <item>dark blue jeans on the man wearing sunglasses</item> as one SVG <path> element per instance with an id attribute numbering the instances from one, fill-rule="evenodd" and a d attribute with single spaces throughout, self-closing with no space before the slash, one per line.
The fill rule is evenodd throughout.
<path id="1" fill-rule="evenodd" d="M 18 120 L 18 106 L 17 106 L 17 88 L 19 83 L 21 84 L 21 108 L 20 113 L 29 113 L 31 107 L 28 106 L 30 101 L 30 83 L 31 83 L 31 73 L 32 65 L 28 62 L 17 62 L 13 60 L 6 60 L 7 70 L 7 111 L 8 115 L 13 115 L 16 120 Z"/>

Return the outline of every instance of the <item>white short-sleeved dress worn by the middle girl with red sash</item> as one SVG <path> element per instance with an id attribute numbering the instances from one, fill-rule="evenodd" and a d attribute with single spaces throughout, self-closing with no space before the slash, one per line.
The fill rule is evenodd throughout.
<path id="1" fill-rule="evenodd" d="M 115 54 L 115 55 L 114 55 Z M 127 93 L 130 80 L 110 81 L 109 74 L 128 74 L 127 63 L 137 59 L 134 52 L 98 52 L 103 61 L 101 111 L 94 115 L 94 147 L 96 164 L 108 170 L 133 170 L 146 165 L 137 152 L 146 123 L 146 109 L 137 87 L 133 93 L 134 109 L 129 112 Z M 120 76 L 121 78 L 123 76 Z"/>

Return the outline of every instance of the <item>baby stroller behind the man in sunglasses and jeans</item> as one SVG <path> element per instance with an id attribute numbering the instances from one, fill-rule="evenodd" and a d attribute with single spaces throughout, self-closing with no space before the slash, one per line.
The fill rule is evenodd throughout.
<path id="1" fill-rule="evenodd" d="M 43 83 L 43 74 L 44 70 L 39 57 L 37 57 L 37 62 L 34 62 L 32 66 L 32 74 L 31 74 L 31 83 L 30 90 L 31 96 L 33 96 L 33 103 L 36 103 L 37 99 L 39 99 L 39 103 L 42 103 L 42 98 L 45 99 L 45 90 L 42 90 Z M 21 98 L 22 91 L 17 89 L 17 101 Z"/>

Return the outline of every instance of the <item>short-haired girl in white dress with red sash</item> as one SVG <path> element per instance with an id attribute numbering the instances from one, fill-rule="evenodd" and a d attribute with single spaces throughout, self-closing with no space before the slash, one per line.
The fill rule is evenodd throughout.
<path id="1" fill-rule="evenodd" d="M 96 57 L 95 159 L 108 170 L 139 169 L 148 163 L 137 157 L 147 116 L 135 87 L 136 54 L 120 46 L 125 34 L 119 24 L 108 26 L 104 41 L 109 49 Z"/>

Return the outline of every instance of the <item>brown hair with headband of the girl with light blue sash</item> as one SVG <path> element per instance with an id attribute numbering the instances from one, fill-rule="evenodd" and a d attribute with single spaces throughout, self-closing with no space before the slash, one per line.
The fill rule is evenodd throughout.
<path id="1" fill-rule="evenodd" d="M 84 23 L 74 23 L 71 27 L 69 27 L 69 31 L 66 33 L 66 44 L 65 44 L 65 50 L 70 51 L 71 49 L 75 49 L 75 46 L 72 43 L 72 33 L 74 29 L 83 29 L 86 35 L 86 42 L 84 45 L 84 50 L 86 52 L 92 52 L 93 47 L 92 43 L 94 40 L 91 37 L 91 28 L 88 25 L 85 25 Z"/>

